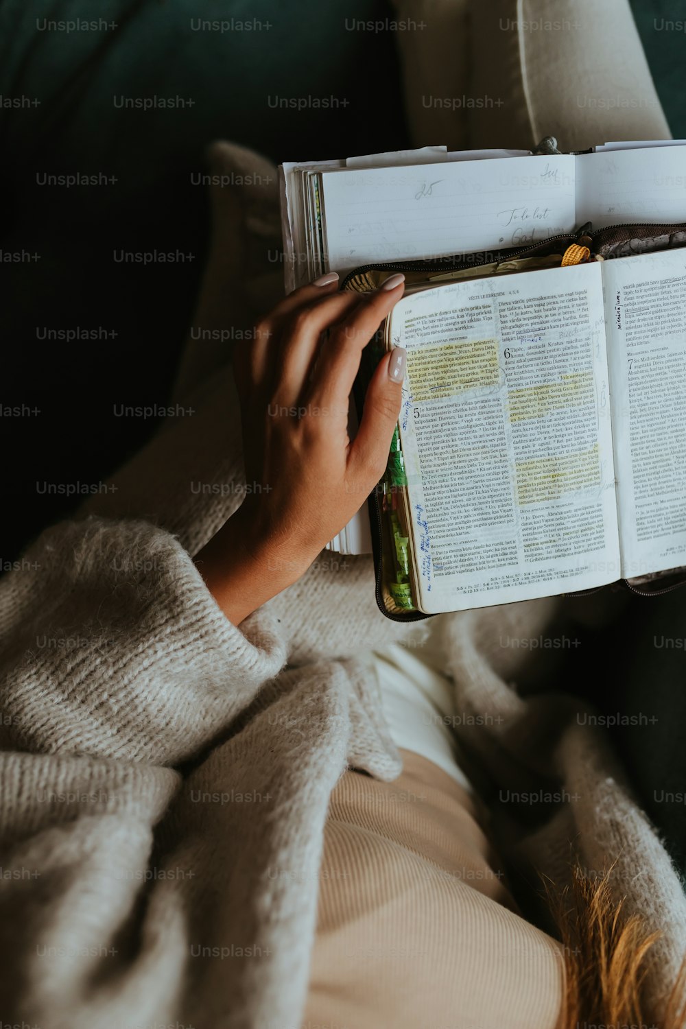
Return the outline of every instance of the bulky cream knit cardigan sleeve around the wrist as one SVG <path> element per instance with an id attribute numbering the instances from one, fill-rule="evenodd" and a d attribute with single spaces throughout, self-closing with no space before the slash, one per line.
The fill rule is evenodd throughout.
<path id="1" fill-rule="evenodd" d="M 284 663 L 189 555 L 144 522 L 47 530 L 0 581 L 4 750 L 175 765 L 225 733 Z"/>

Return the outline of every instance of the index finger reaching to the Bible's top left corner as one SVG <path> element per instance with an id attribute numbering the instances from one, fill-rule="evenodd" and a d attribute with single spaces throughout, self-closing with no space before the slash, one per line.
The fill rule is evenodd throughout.
<path id="1" fill-rule="evenodd" d="M 331 332 L 313 376 L 313 399 L 332 407 L 348 401 L 362 351 L 402 296 L 404 278 L 392 276 Z"/>

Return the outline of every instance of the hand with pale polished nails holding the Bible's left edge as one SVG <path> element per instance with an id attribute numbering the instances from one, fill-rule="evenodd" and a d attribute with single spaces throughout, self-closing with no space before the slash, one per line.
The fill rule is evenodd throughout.
<path id="1" fill-rule="evenodd" d="M 350 521 L 384 473 L 398 420 L 400 348 L 382 358 L 349 438 L 362 350 L 402 296 L 403 277 L 364 295 L 338 292 L 335 275 L 318 282 L 287 296 L 234 357 L 250 492 L 196 561 L 237 625 Z"/>

